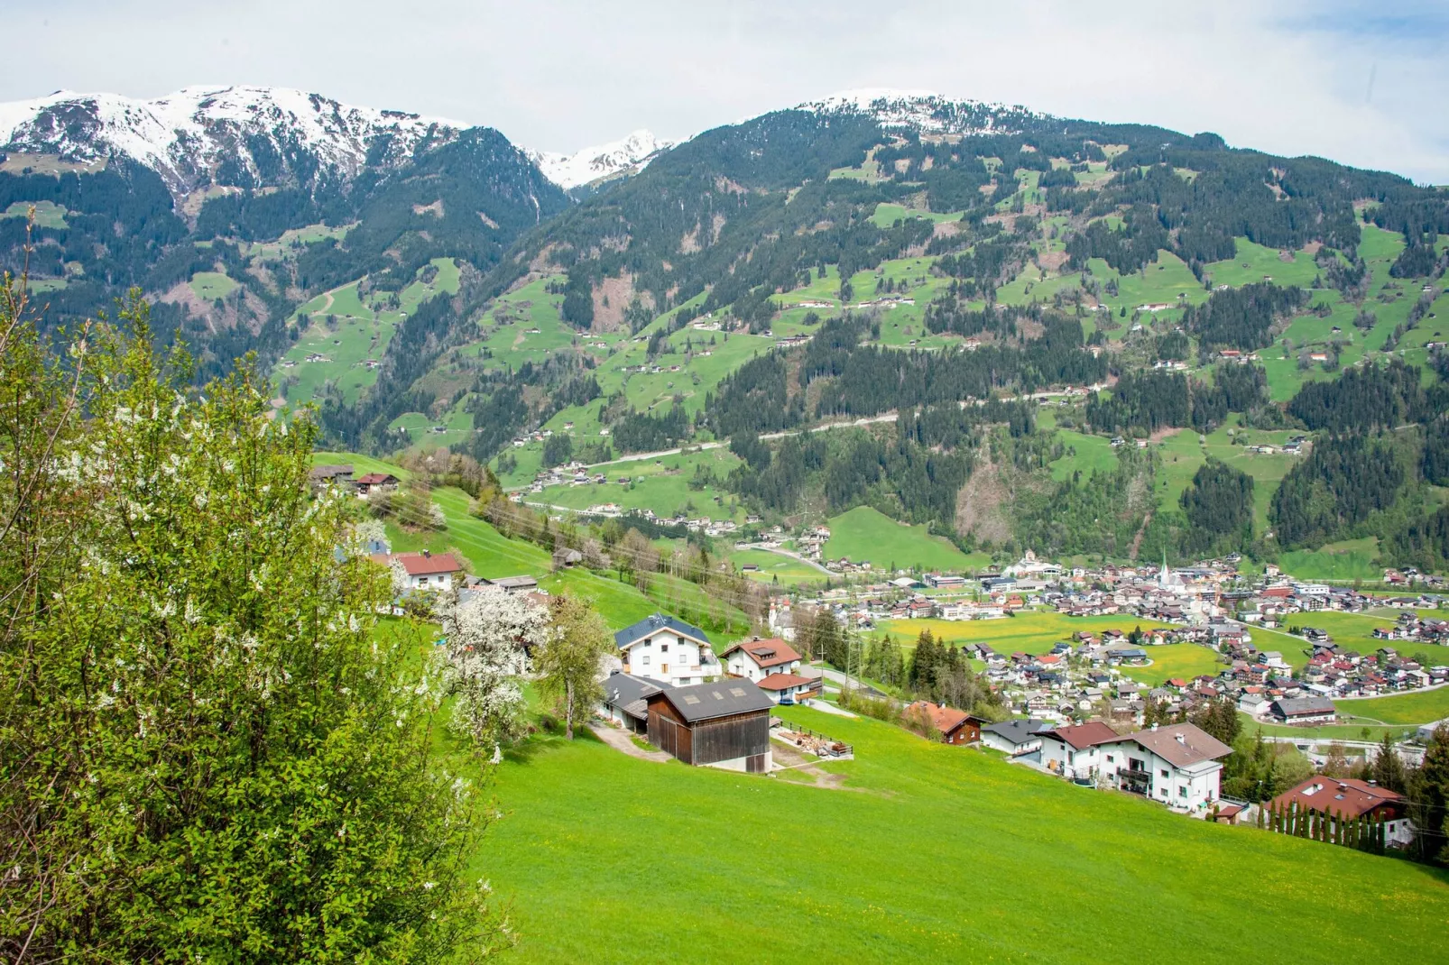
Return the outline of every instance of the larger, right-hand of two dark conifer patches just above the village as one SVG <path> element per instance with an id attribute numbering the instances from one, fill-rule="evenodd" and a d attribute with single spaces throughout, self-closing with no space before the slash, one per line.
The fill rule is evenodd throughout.
<path id="1" fill-rule="evenodd" d="M 1268 510 L 1281 546 L 1340 539 L 1371 513 L 1394 504 L 1406 480 L 1394 449 L 1364 436 L 1320 438 L 1284 477 Z"/>

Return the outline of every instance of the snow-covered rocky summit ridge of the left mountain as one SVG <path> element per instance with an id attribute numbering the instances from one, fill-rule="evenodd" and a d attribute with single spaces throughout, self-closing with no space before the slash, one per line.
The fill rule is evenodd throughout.
<path id="1" fill-rule="evenodd" d="M 0 104 L 0 151 L 83 162 L 126 156 L 155 170 L 175 194 L 209 183 L 345 178 L 464 128 L 278 87 L 187 87 L 155 100 L 57 91 Z"/>

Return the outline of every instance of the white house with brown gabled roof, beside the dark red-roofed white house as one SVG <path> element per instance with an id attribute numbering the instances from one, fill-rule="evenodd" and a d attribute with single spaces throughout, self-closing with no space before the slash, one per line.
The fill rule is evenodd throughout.
<path id="1" fill-rule="evenodd" d="M 1104 742 L 1100 775 L 1120 791 L 1181 810 L 1206 811 L 1219 798 L 1223 758 L 1232 752 L 1195 724 L 1152 724 Z"/>

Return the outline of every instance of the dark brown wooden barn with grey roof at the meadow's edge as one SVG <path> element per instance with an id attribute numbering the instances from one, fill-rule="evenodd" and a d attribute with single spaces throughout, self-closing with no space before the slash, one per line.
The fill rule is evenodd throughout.
<path id="1" fill-rule="evenodd" d="M 748 680 L 672 687 L 651 694 L 649 743 L 685 764 L 769 772 L 774 703 Z"/>

